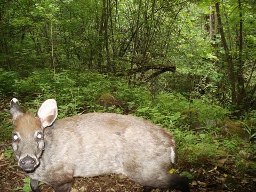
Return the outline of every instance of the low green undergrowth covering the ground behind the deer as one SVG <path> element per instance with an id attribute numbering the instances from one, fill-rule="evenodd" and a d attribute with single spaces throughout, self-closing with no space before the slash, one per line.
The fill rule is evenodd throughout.
<path id="1" fill-rule="evenodd" d="M 154 95 L 145 87 L 129 87 L 126 79 L 71 70 L 53 71 L 44 69 L 34 71 L 20 78 L 15 71 L 4 71 L 0 85 L 2 98 L 16 97 L 23 110 L 36 112 L 41 103 L 50 98 L 58 102 L 58 118 L 90 112 L 104 112 L 97 104 L 102 93 L 110 93 L 122 107 L 110 107 L 108 111 L 139 116 L 163 126 L 173 133 L 179 151 L 178 164 L 190 166 L 212 164 L 234 172 L 256 172 L 256 147 L 254 139 L 250 142 L 231 135 L 227 138 L 220 134 L 221 127 L 207 124 L 209 120 L 219 121 L 230 115 L 227 109 L 212 105 L 207 99 L 191 100 L 180 93 L 161 93 Z M 256 114 L 250 114 L 255 119 Z M 12 125 L 9 106 L 0 111 L 0 141 L 9 140 Z M 204 129 L 196 132 L 191 125 L 201 123 Z M 250 127 L 252 131 L 252 127 Z M 253 135 L 253 132 L 252 134 Z M 223 168 L 223 169 L 224 169 Z M 185 170 L 189 171 L 189 170 Z M 193 174 L 193 172 L 191 172 Z"/>

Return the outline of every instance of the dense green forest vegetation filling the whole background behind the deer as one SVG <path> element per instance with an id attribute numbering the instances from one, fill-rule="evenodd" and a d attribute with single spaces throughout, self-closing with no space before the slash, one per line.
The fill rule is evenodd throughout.
<path id="1" fill-rule="evenodd" d="M 255 184 L 255 1 L 0 4 L 1 143 L 12 97 L 33 112 L 55 98 L 59 118 L 111 111 L 170 130 L 179 149 L 171 171 L 201 180 L 193 186 L 218 170 L 222 188 Z"/>

